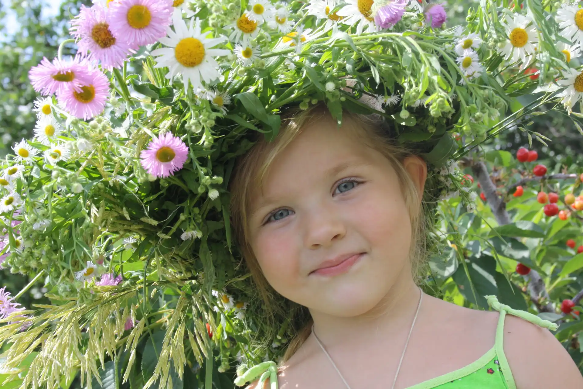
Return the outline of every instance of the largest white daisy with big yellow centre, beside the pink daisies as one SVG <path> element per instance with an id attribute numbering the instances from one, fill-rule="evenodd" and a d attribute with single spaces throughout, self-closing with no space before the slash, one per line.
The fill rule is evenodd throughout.
<path id="1" fill-rule="evenodd" d="M 182 13 L 174 11 L 172 15 L 175 32 L 168 27 L 167 37 L 160 38 L 160 43 L 168 47 L 157 48 L 150 54 L 159 56 L 158 64 L 154 68 L 168 67 L 169 72 L 166 78 L 173 80 L 177 73 L 182 74 L 184 86 L 188 87 L 188 82 L 196 90 L 202 87 L 203 82 L 211 82 L 219 78 L 219 64 L 213 56 L 230 54 L 229 50 L 210 48 L 226 40 L 224 37 L 206 38 L 210 33 L 201 33 L 200 20 L 190 20 L 190 27 L 187 27 L 182 20 Z M 194 29 L 193 24 L 194 22 Z"/>

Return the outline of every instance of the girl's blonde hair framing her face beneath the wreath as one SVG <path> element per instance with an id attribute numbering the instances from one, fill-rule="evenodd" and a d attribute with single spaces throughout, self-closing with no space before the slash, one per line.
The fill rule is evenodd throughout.
<path id="1" fill-rule="evenodd" d="M 273 330 L 267 331 L 266 337 L 269 337 L 268 339 L 275 338 L 272 335 L 275 335 L 276 328 L 282 326 L 282 320 L 278 319 L 278 317 L 290 317 L 291 315 L 291 334 L 293 339 L 287 346 L 285 355 L 283 355 L 280 363 L 289 360 L 310 336 L 312 318 L 306 307 L 290 302 L 285 297 L 280 296 L 265 279 L 248 240 L 248 216 L 251 199 L 257 195 L 257 191 L 262 187 L 261 184 L 273 160 L 293 139 L 301 134 L 308 124 L 325 115 L 331 116 L 324 104 L 317 104 L 305 111 L 297 109 L 287 111 L 285 115 L 282 115 L 282 131 L 278 136 L 273 142 L 268 142 L 264 136 L 258 133 L 258 141 L 245 155 L 237 159 L 229 182 L 231 226 L 234 237 L 238 242 L 238 247 L 257 288 L 256 292 L 265 309 L 265 320 L 271 322 L 267 323 L 266 328 Z M 347 135 L 353 136 L 355 140 L 357 139 L 357 141 L 362 142 L 369 148 L 380 152 L 387 157 L 396 171 L 411 220 L 412 244 L 409 249 L 409 258 L 411 260 L 413 278 L 419 285 L 423 265 L 427 257 L 425 237 L 428 225 L 424 217 L 423 202 L 420 201 L 417 186 L 403 166 L 403 160 L 408 156 L 415 155 L 415 153 L 399 145 L 391 137 L 392 129 L 380 115 L 357 115 L 345 111 L 342 118 L 343 125 L 339 128 L 339 131 L 347 131 Z M 287 304 L 282 304 L 282 302 Z M 278 335 L 281 334 L 279 333 Z M 271 340 L 269 340 L 269 345 L 271 345 Z"/>

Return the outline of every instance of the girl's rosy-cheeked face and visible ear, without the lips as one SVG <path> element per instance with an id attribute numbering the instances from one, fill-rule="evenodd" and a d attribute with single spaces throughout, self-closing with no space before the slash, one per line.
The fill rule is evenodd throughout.
<path id="1" fill-rule="evenodd" d="M 408 157 L 404 164 L 423 191 L 425 163 Z M 412 279 L 411 224 L 395 170 L 328 115 L 280 153 L 259 192 L 250 244 L 267 281 L 287 299 L 350 317 L 377 306 L 398 280 Z M 365 254 L 342 274 L 312 273 L 349 253 Z"/>

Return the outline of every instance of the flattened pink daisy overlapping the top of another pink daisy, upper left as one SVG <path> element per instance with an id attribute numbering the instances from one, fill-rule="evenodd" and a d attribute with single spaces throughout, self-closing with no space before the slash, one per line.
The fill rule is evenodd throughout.
<path id="1" fill-rule="evenodd" d="M 30 83 L 38 93 L 48 96 L 64 86 L 73 86 L 80 92 L 80 85 L 91 79 L 89 62 L 76 55 L 72 61 L 55 58 L 50 62 L 44 57 L 40 65 L 29 71 Z"/>

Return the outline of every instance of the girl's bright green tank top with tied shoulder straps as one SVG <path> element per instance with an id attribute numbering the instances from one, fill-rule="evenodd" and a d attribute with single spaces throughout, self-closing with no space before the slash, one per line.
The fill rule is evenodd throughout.
<path id="1" fill-rule="evenodd" d="M 494 346 L 480 359 L 454 372 L 424 381 L 407 389 L 516 389 L 514 377 L 508 360 L 504 354 L 504 318 L 507 314 L 518 316 L 533 324 L 549 330 L 556 330 L 557 324 L 543 320 L 532 313 L 515 310 L 498 302 L 496 296 L 484 296 L 489 306 L 500 312 L 496 327 L 496 341 Z M 263 389 L 264 382 L 269 379 L 270 389 L 278 389 L 278 369 L 275 362 L 259 363 L 237 377 L 235 384 L 244 386 L 259 378 L 257 389 Z"/>

